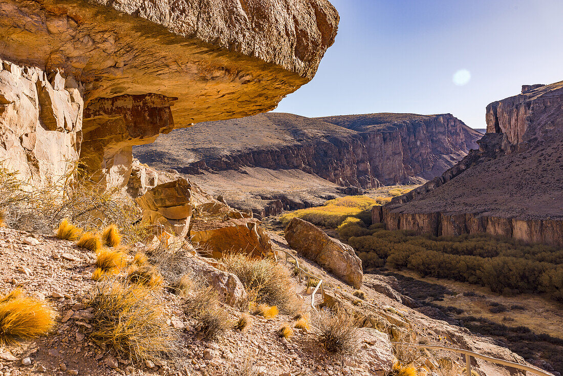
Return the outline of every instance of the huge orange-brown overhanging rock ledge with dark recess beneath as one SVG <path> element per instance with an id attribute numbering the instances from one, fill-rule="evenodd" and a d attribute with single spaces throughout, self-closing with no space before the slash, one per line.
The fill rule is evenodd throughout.
<path id="1" fill-rule="evenodd" d="M 121 184 L 127 148 L 160 131 L 275 108 L 314 76 L 337 24 L 326 0 L 7 0 L 0 57 L 79 83 L 88 125 L 81 157 L 92 170 L 123 170 L 106 179 Z M 121 120 L 110 119 L 113 109 Z"/>

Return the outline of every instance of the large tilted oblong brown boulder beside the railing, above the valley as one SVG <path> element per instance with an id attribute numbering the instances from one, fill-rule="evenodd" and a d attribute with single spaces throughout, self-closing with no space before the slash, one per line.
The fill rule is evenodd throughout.
<path id="1" fill-rule="evenodd" d="M 285 228 L 285 240 L 298 254 L 318 263 L 356 289 L 361 287 L 361 260 L 351 246 L 300 218 L 289 222 Z"/>

